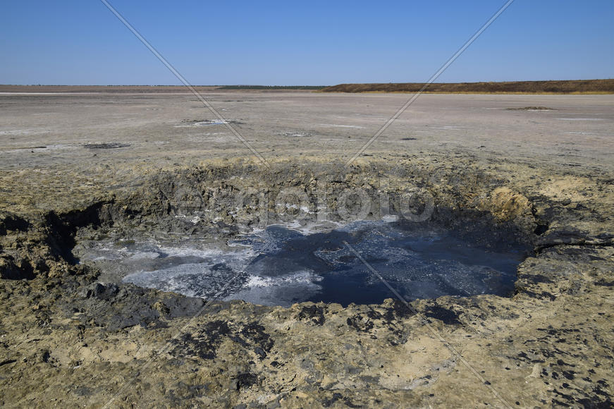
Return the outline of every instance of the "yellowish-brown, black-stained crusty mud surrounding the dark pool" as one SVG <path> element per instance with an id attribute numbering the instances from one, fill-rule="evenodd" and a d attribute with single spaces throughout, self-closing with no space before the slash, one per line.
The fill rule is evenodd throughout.
<path id="1" fill-rule="evenodd" d="M 248 200 L 250 188 L 271 198 L 297 188 L 314 205 L 324 180 L 333 193 L 386 188 L 393 212 L 403 188 L 419 188 L 434 198 L 437 223 L 482 224 L 489 240 L 532 245 L 515 295 L 418 300 L 411 309 L 392 299 L 347 308 L 205 304 L 100 283 L 98 271 L 75 264 L 75 244 L 102 236 L 231 237 L 259 222 L 259 206 L 274 206 Z M 336 195 L 328 197 L 336 209 Z M 119 392 L 120 407 L 504 405 L 493 389 L 512 406 L 609 407 L 613 198 L 602 175 L 470 157 L 349 170 L 317 159 L 274 162 L 271 171 L 247 161 L 118 169 L 86 190 L 47 193 L 55 205 L 44 212 L 29 202 L 1 211 L 1 404 L 100 407 Z"/>

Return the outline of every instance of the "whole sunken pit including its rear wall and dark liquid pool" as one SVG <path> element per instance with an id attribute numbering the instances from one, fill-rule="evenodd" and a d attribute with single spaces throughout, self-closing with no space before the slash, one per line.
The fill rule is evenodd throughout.
<path id="1" fill-rule="evenodd" d="M 102 282 L 259 305 L 514 292 L 537 237 L 526 197 L 481 174 L 379 171 L 159 173 L 102 205 L 73 255 Z"/>

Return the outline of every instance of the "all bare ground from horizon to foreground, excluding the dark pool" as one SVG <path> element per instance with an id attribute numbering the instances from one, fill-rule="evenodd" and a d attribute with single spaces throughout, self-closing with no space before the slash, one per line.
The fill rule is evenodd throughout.
<path id="1" fill-rule="evenodd" d="M 1 404 L 611 407 L 611 97 L 424 96 L 344 167 L 404 98 L 211 95 L 263 165 L 185 95 L 1 96 Z M 332 219 L 344 188 L 386 190 L 393 214 L 418 189 L 430 222 L 530 245 L 515 294 L 262 307 L 111 283 L 73 254 L 230 238 L 283 189 L 321 206 L 323 182 Z"/>

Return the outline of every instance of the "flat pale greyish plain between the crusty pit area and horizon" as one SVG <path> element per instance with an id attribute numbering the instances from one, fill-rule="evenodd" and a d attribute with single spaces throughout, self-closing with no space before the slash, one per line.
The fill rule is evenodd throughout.
<path id="1" fill-rule="evenodd" d="M 386 123 L 404 94 L 204 94 L 265 159 L 326 154 L 345 161 Z M 510 110 L 545 106 L 549 111 Z M 544 161 L 611 170 L 614 96 L 420 96 L 374 142 L 375 157 L 418 152 Z M 161 166 L 250 156 L 190 94 L 2 94 L 0 169 L 149 161 Z M 123 149 L 85 149 L 121 142 Z M 34 151 L 34 152 L 32 152 Z M 96 156 L 94 156 L 94 154 Z"/>

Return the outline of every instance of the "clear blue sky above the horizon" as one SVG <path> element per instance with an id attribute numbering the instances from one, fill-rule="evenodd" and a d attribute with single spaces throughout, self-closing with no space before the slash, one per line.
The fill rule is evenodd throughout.
<path id="1" fill-rule="evenodd" d="M 194 85 L 424 82 L 503 0 L 110 0 Z M 8 1 L 0 83 L 175 85 L 97 0 Z M 614 1 L 515 0 L 438 82 L 614 78 Z"/>

